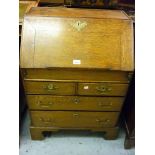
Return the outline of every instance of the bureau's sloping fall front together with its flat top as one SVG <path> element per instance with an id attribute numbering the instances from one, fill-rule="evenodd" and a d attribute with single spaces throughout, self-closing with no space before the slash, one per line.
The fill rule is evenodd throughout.
<path id="1" fill-rule="evenodd" d="M 132 21 L 122 11 L 32 8 L 24 18 L 21 68 L 132 71 Z"/>

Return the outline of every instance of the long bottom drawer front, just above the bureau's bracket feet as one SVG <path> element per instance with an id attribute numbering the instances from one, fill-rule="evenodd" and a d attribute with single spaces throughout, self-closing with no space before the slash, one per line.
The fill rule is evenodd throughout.
<path id="1" fill-rule="evenodd" d="M 33 126 L 91 128 L 113 127 L 119 112 L 31 111 Z"/>

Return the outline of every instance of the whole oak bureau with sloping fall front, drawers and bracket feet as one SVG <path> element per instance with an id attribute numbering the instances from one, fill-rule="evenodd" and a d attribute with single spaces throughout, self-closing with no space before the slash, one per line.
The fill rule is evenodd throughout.
<path id="1" fill-rule="evenodd" d="M 134 70 L 132 20 L 114 10 L 32 8 L 20 68 L 33 140 L 58 130 L 115 139 Z"/>

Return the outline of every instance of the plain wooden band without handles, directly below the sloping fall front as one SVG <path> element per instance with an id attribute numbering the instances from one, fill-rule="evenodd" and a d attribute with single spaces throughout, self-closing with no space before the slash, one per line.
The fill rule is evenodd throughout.
<path id="1" fill-rule="evenodd" d="M 24 79 L 77 80 L 129 83 L 131 72 L 78 69 L 22 69 Z"/>

